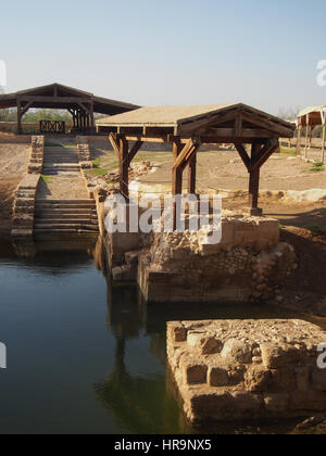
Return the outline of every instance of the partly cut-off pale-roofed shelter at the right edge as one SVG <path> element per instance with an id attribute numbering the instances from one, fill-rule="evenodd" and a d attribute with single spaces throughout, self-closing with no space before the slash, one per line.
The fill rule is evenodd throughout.
<path id="1" fill-rule="evenodd" d="M 322 141 L 322 159 L 325 163 L 325 130 L 326 130 L 326 106 L 306 107 L 301 111 L 298 116 L 298 139 L 297 139 L 297 153 L 301 153 L 301 136 L 302 129 L 305 127 L 305 147 L 304 156 L 308 157 L 308 150 L 312 145 L 313 129 L 322 125 L 323 127 L 323 141 Z"/>

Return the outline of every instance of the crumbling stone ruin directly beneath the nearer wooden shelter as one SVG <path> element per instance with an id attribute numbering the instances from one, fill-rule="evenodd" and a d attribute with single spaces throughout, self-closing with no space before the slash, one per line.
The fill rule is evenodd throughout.
<path id="1" fill-rule="evenodd" d="M 217 244 L 205 230 L 153 233 L 139 255 L 138 284 L 148 302 L 269 300 L 297 268 L 277 220 L 224 212 Z"/>

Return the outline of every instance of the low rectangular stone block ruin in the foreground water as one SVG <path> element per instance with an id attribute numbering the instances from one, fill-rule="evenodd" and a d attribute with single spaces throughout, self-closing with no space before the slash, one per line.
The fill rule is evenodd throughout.
<path id="1" fill-rule="evenodd" d="M 326 413 L 326 332 L 301 320 L 167 324 L 167 355 L 192 423 Z"/>

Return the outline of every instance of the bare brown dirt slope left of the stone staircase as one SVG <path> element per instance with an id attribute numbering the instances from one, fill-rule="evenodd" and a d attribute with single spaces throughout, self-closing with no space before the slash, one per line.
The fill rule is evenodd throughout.
<path id="1" fill-rule="evenodd" d="M 8 136 L 0 135 L 0 232 L 8 230 L 14 192 L 26 172 L 30 151 L 25 140 L 5 141 Z"/>

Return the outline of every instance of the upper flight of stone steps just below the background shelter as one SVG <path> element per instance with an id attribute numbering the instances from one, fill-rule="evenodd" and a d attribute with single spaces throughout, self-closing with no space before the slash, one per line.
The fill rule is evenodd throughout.
<path id="1" fill-rule="evenodd" d="M 55 176 L 64 173 L 80 173 L 77 149 L 46 147 L 43 174 L 46 176 Z"/>

